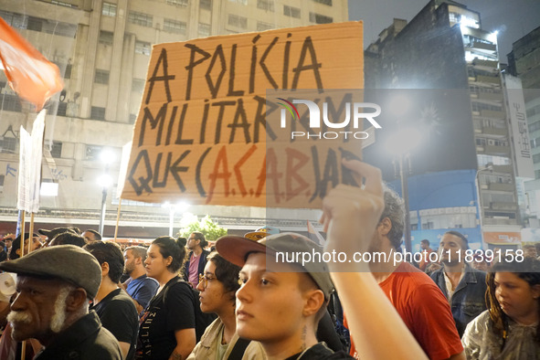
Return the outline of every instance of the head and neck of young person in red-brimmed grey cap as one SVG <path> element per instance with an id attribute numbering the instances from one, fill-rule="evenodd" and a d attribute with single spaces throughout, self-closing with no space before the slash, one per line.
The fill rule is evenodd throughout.
<path id="1" fill-rule="evenodd" d="M 259 341 L 270 359 L 344 359 L 318 343 L 315 332 L 334 285 L 324 262 L 275 261 L 281 252 L 321 252 L 300 234 L 280 233 L 253 241 L 217 239 L 217 252 L 242 267 L 237 297 L 237 333 Z"/>

